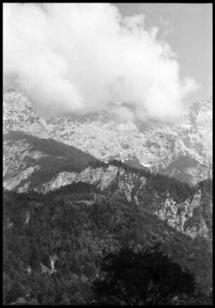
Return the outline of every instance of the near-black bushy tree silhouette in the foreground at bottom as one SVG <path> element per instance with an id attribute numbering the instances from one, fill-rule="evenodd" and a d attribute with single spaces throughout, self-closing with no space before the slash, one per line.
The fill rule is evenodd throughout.
<path id="1" fill-rule="evenodd" d="M 99 266 L 100 276 L 93 281 L 98 304 L 174 304 L 176 298 L 195 291 L 193 274 L 157 246 L 140 251 L 122 248 L 105 254 Z"/>

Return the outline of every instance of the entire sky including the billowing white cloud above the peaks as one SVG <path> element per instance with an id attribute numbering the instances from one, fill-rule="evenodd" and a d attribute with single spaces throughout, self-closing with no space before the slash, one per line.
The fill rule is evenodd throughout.
<path id="1" fill-rule="evenodd" d="M 4 4 L 4 87 L 44 118 L 126 102 L 141 119 L 211 97 L 211 4 Z"/>

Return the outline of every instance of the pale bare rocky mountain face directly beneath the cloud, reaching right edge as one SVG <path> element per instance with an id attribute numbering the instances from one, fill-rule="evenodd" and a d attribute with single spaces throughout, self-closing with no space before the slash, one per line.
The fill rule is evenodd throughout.
<path id="1" fill-rule="evenodd" d="M 63 114 L 48 121 L 49 133 L 103 161 L 133 162 L 189 185 L 211 178 L 211 99 L 197 101 L 174 123 L 122 118 L 124 106 L 116 108 L 117 113 Z"/>

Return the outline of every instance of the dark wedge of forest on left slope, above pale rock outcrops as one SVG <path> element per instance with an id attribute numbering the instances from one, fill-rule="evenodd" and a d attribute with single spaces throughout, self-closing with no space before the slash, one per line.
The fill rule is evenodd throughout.
<path id="1" fill-rule="evenodd" d="M 26 140 L 28 144 L 32 147 L 30 151 L 38 151 L 48 156 L 41 157 L 39 159 L 32 159 L 31 157 L 25 158 L 25 164 L 28 166 L 39 166 L 38 170 L 27 178 L 22 180 L 18 187 L 25 185 L 25 183 L 30 181 L 30 188 L 37 187 L 43 183 L 47 183 L 54 176 L 58 175 L 60 172 L 81 172 L 87 166 L 98 167 L 105 166 L 101 161 L 98 161 L 95 157 L 82 152 L 81 150 L 64 144 L 62 142 L 57 142 L 52 139 L 41 139 L 39 137 L 34 137 L 32 135 L 27 135 L 22 132 L 9 132 L 4 138 L 6 140 Z"/>

